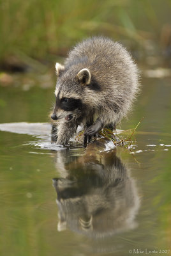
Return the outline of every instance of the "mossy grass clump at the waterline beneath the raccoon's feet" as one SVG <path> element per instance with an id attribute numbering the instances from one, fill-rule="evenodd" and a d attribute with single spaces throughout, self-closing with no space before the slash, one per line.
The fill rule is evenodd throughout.
<path id="1" fill-rule="evenodd" d="M 131 145 L 133 134 L 138 128 L 138 125 L 142 122 L 144 117 L 138 122 L 135 128 L 129 129 L 129 130 L 124 130 L 124 131 L 119 131 L 119 132 L 113 132 L 108 128 L 104 128 L 99 132 L 100 136 L 103 136 L 109 141 L 112 141 L 115 146 L 120 146 L 120 147 L 125 147 L 127 144 L 128 146 Z M 126 135 L 127 134 L 127 135 Z M 75 140 L 81 141 L 84 136 L 84 131 L 80 131 L 78 135 L 76 136 Z"/>

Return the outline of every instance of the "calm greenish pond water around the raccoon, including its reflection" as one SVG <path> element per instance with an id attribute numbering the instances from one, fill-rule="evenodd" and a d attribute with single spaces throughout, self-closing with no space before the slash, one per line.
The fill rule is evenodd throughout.
<path id="1" fill-rule="evenodd" d="M 0 255 L 170 255 L 170 82 L 142 79 L 120 127 L 144 116 L 132 153 L 60 149 L 48 124 L 0 125 Z M 48 122 L 53 100 L 52 88 L 0 88 L 1 124 Z"/>

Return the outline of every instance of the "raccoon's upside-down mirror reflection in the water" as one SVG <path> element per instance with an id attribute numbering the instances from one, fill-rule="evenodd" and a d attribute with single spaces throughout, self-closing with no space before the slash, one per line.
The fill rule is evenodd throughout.
<path id="1" fill-rule="evenodd" d="M 54 179 L 59 231 L 68 227 L 105 237 L 135 227 L 139 199 L 134 180 L 114 152 L 104 152 L 100 158 L 80 157 L 69 170 L 65 166 L 68 176 Z"/>

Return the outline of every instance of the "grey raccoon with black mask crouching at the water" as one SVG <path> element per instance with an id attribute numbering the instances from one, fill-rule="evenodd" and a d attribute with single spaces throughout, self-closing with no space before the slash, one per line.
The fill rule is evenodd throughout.
<path id="1" fill-rule="evenodd" d="M 115 129 L 138 92 L 138 68 L 124 47 L 109 38 L 77 44 L 64 65 L 56 63 L 57 144 L 65 145 L 84 126 L 84 145 L 103 127 Z"/>

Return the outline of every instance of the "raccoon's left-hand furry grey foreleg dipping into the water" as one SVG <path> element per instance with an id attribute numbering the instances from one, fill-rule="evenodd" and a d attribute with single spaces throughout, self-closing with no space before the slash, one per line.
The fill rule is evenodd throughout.
<path id="1" fill-rule="evenodd" d="M 75 119 L 70 122 L 64 122 L 57 125 L 57 145 L 66 145 L 77 131 L 78 124 Z"/>

